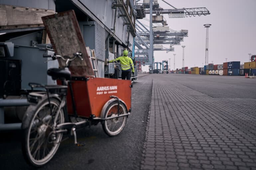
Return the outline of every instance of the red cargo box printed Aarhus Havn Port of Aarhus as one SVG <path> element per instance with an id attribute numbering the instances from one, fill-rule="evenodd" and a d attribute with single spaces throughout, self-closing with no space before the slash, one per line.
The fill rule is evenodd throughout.
<path id="1" fill-rule="evenodd" d="M 131 81 L 108 78 L 83 78 L 72 81 L 75 107 L 80 117 L 89 118 L 91 114 L 100 117 L 104 104 L 110 96 L 117 96 L 127 108 L 131 108 Z M 67 112 L 73 114 L 72 99 L 68 88 Z"/>

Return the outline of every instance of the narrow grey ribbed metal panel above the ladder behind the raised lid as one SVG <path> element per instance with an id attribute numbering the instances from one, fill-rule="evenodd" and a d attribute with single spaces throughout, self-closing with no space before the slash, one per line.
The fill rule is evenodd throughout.
<path id="1" fill-rule="evenodd" d="M 98 60 L 105 61 L 105 29 L 97 22 L 96 26 L 96 40 L 95 40 L 95 54 Z"/>

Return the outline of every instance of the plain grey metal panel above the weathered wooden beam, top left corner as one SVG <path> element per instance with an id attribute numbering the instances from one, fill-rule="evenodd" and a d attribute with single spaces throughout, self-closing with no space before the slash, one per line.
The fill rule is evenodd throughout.
<path id="1" fill-rule="evenodd" d="M 0 4 L 49 9 L 55 11 L 54 0 L 0 0 Z"/>

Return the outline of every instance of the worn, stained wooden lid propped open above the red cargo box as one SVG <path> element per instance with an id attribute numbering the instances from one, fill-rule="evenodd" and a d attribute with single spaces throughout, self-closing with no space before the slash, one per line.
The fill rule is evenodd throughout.
<path id="1" fill-rule="evenodd" d="M 94 77 L 89 54 L 86 51 L 74 11 L 45 16 L 42 17 L 42 20 L 58 55 L 72 57 L 75 52 L 82 53 L 83 61 L 76 58 L 69 65 L 72 76 Z M 63 68 L 65 61 L 59 59 L 59 65 Z"/>

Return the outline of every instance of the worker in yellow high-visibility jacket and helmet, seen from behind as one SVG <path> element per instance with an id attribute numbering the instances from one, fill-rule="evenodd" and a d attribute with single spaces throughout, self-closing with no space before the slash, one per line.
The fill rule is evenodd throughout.
<path id="1" fill-rule="evenodd" d="M 114 60 L 108 61 L 109 63 L 115 62 L 115 61 L 120 61 L 121 63 L 121 69 L 122 69 L 122 79 L 123 80 L 131 80 L 131 71 L 134 73 L 134 65 L 132 62 L 132 59 L 128 57 L 128 51 L 124 50 L 123 51 L 123 56 L 118 57 Z"/>

